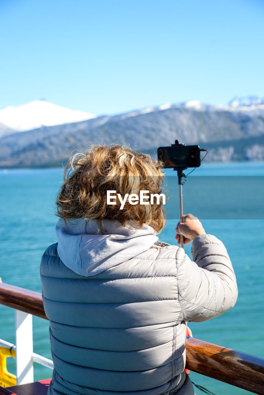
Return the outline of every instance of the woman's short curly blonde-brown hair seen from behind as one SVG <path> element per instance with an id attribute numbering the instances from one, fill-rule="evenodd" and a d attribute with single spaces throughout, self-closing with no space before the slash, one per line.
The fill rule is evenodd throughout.
<path id="1" fill-rule="evenodd" d="M 64 183 L 57 195 L 57 216 L 67 220 L 97 220 L 104 231 L 103 220 L 118 220 L 122 225 L 132 220 L 139 228 L 152 226 L 159 233 L 165 226 L 165 211 L 158 202 L 131 205 L 120 210 L 120 201 L 108 205 L 106 191 L 116 194 L 161 194 L 163 185 L 161 162 L 153 162 L 149 154 L 135 152 L 120 145 L 93 145 L 84 154 L 73 155 L 64 170 Z"/>

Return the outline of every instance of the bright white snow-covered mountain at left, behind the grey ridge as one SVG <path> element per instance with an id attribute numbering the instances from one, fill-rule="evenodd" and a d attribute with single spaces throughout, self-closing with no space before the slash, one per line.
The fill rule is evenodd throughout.
<path id="1" fill-rule="evenodd" d="M 91 118 L 95 118 L 95 115 L 61 107 L 46 100 L 34 100 L 27 104 L 8 106 L 0 110 L 0 123 L 19 132 Z"/>

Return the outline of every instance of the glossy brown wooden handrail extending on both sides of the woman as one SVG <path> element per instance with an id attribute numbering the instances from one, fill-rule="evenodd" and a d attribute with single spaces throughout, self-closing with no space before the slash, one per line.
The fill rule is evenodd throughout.
<path id="1" fill-rule="evenodd" d="M 0 304 L 47 320 L 41 293 L 0 284 Z M 188 337 L 186 368 L 264 395 L 264 359 Z"/>

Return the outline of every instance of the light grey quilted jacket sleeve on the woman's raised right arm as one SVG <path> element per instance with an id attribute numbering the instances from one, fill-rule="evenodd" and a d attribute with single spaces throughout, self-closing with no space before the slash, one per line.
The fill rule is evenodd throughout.
<path id="1" fill-rule="evenodd" d="M 237 300 L 236 276 L 225 246 L 212 235 L 200 235 L 192 257 L 176 253 L 178 297 L 184 321 L 201 322 L 220 316 Z"/>

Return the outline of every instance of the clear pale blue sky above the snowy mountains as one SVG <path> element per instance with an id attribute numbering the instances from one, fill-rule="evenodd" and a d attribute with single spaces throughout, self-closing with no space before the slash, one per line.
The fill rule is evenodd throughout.
<path id="1" fill-rule="evenodd" d="M 262 0 L 0 0 L 0 108 L 264 96 Z"/>

